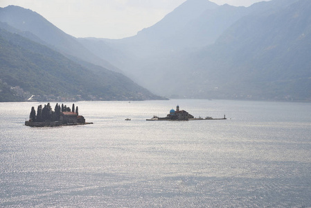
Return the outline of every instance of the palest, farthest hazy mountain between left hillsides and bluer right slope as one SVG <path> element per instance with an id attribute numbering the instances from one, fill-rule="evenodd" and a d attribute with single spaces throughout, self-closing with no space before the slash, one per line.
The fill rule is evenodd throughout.
<path id="1" fill-rule="evenodd" d="M 136 55 L 134 58 L 125 57 L 123 62 L 114 58 L 111 61 L 140 85 L 162 94 L 162 86 L 158 83 L 163 77 L 169 77 L 167 74 L 170 71 L 180 69 L 172 64 L 175 57 L 213 44 L 226 28 L 248 13 L 245 7 L 217 6 L 207 0 L 186 1 L 158 24 L 146 28 L 135 37 L 106 41 L 125 55 Z M 145 40 L 148 40 L 147 43 Z"/>

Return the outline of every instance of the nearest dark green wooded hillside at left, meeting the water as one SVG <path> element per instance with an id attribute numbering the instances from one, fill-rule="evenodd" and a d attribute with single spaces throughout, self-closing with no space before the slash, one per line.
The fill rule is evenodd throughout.
<path id="1" fill-rule="evenodd" d="M 46 46 L 4 29 L 0 29 L 0 45 L 0 101 L 23 101 L 31 94 L 39 95 L 35 98 L 42 100 L 49 94 L 53 96 L 48 98 L 83 100 L 159 98 L 121 73 L 92 64 L 82 67 Z"/>

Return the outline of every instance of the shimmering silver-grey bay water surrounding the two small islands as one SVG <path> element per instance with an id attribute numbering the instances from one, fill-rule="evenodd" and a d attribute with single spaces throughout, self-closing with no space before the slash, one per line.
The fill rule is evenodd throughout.
<path id="1" fill-rule="evenodd" d="M 78 102 L 93 125 L 25 126 L 40 104 L 0 103 L 0 207 L 311 207 L 311 103 Z M 177 104 L 228 119 L 145 121 Z"/>

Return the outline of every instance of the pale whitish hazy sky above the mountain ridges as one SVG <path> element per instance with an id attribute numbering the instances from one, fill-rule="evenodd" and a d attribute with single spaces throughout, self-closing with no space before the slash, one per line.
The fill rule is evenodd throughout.
<path id="1" fill-rule="evenodd" d="M 136 35 L 143 28 L 152 26 L 184 1 L 186 0 L 0 0 L 0 7 L 16 5 L 33 10 L 74 37 L 118 39 Z M 228 3 L 233 6 L 250 6 L 263 0 L 211 1 L 219 5 Z"/>

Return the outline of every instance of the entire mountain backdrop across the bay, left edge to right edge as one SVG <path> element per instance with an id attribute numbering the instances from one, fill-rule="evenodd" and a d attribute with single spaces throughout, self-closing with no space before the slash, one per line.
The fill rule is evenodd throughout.
<path id="1" fill-rule="evenodd" d="M 75 38 L 17 6 L 1 8 L 0 21 L 1 42 L 10 57 L 20 60 L 15 65 L 2 53 L 1 65 L 12 69 L 1 70 L 1 94 L 19 83 L 37 94 L 73 95 L 78 89 L 80 95 L 103 99 L 130 99 L 135 94 L 136 99 L 159 98 L 134 80 L 170 98 L 311 101 L 311 1 L 272 0 L 245 8 L 188 0 L 154 26 L 121 40 Z M 29 51 L 41 57 L 34 60 L 36 55 L 29 57 Z M 22 63 L 37 71 L 20 70 Z M 33 64 L 36 67 L 30 67 Z M 53 65 L 66 69 L 65 78 L 55 77 L 60 73 L 57 67 L 45 67 Z M 52 93 L 51 87 L 29 84 L 38 78 L 20 80 L 50 72 L 42 85 L 48 80 L 54 80 L 53 86 L 68 85 Z M 24 75 L 17 77 L 19 73 Z M 70 83 L 66 79 L 73 73 Z"/>

